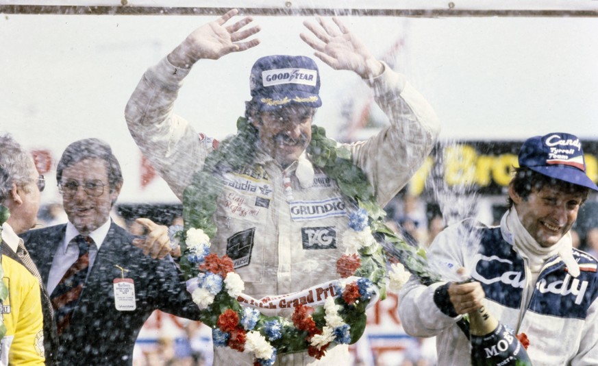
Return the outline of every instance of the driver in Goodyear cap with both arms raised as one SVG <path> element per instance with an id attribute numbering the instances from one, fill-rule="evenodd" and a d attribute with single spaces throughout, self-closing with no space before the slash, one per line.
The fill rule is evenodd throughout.
<path id="1" fill-rule="evenodd" d="M 212 217 L 217 231 L 210 251 L 232 258 L 245 282 L 245 294 L 260 299 L 338 279 L 336 261 L 345 253 L 340 241 L 348 228 L 347 215 L 356 208 L 306 153 L 312 119 L 323 103 L 319 69 L 311 58 L 260 58 L 251 70 L 251 100 L 246 103 L 245 117 L 238 120 L 238 134 L 219 149 L 215 149 L 216 141 L 203 134 L 198 138 L 190 124 L 173 113 L 182 80 L 198 60 L 216 60 L 258 45 L 257 39 L 247 38 L 259 32 L 259 27 L 244 29 L 251 18 L 225 25 L 237 13 L 231 10 L 199 27 L 146 71 L 127 103 L 125 117 L 142 153 L 180 199 L 194 174 L 210 167 L 206 159 L 213 163 L 213 154 L 221 156 L 223 149 L 229 149 L 227 154 L 233 156 L 218 158 L 210 171 L 223 185 Z M 376 60 L 338 19 L 334 23 L 306 22 L 312 35 L 301 34 L 301 38 L 325 64 L 360 75 L 390 120 L 369 141 L 345 145 L 353 164 L 373 186 L 377 202 L 384 206 L 434 147 L 438 120 L 406 77 Z M 213 87 L 204 92 L 210 93 Z M 234 143 L 238 145 L 232 149 Z M 240 160 L 242 164 L 235 166 Z M 209 189 L 202 185 L 194 188 Z M 209 195 L 198 193 L 197 197 L 208 199 Z M 162 256 L 170 249 L 164 245 L 147 251 Z M 284 316 L 292 313 L 288 308 L 275 311 Z M 214 365 L 253 362 L 251 354 L 225 347 L 216 347 L 214 352 Z M 342 365 L 348 356 L 345 344 L 327 350 L 319 361 L 308 352 L 298 352 L 277 356 L 277 363 Z"/>

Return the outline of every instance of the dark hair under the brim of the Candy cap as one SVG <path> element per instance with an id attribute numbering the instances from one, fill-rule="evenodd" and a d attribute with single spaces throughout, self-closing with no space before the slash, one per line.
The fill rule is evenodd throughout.
<path id="1" fill-rule="evenodd" d="M 590 193 L 590 188 L 551 178 L 527 167 L 515 168 L 515 175 L 510 184 L 513 185 L 515 193 L 524 200 L 527 200 L 527 197 L 530 197 L 532 192 L 540 191 L 545 186 L 558 187 L 560 191 L 565 193 L 579 193 L 582 195 L 582 203 L 588 199 Z M 507 204 L 509 208 L 514 205 L 511 197 L 508 197 Z"/>

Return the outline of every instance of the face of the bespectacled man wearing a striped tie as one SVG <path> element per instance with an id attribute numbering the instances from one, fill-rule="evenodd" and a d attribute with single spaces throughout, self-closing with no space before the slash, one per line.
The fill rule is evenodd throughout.
<path id="1" fill-rule="evenodd" d="M 97 189 L 100 182 L 103 190 Z M 68 221 L 81 234 L 89 234 L 108 221 L 112 202 L 121 192 L 121 184 L 110 187 L 106 162 L 97 158 L 84 159 L 64 168 L 60 184 L 71 187 L 71 193 L 63 189 L 62 204 Z M 90 188 L 93 186 L 96 188 Z"/>

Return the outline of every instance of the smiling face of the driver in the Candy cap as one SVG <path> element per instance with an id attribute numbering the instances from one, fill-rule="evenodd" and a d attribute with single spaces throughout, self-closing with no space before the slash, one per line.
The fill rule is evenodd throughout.
<path id="1" fill-rule="evenodd" d="M 532 189 L 526 199 L 509 186 L 509 195 L 515 204 L 519 221 L 542 247 L 551 247 L 568 232 L 581 204 L 582 193 L 566 191 L 558 186 Z"/>

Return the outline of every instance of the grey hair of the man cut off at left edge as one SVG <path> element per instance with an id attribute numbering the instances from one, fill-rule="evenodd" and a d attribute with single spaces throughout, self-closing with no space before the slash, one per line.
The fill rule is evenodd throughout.
<path id="1" fill-rule="evenodd" d="M 0 203 L 8 198 L 12 184 L 29 178 L 33 158 L 10 134 L 0 136 Z"/>

